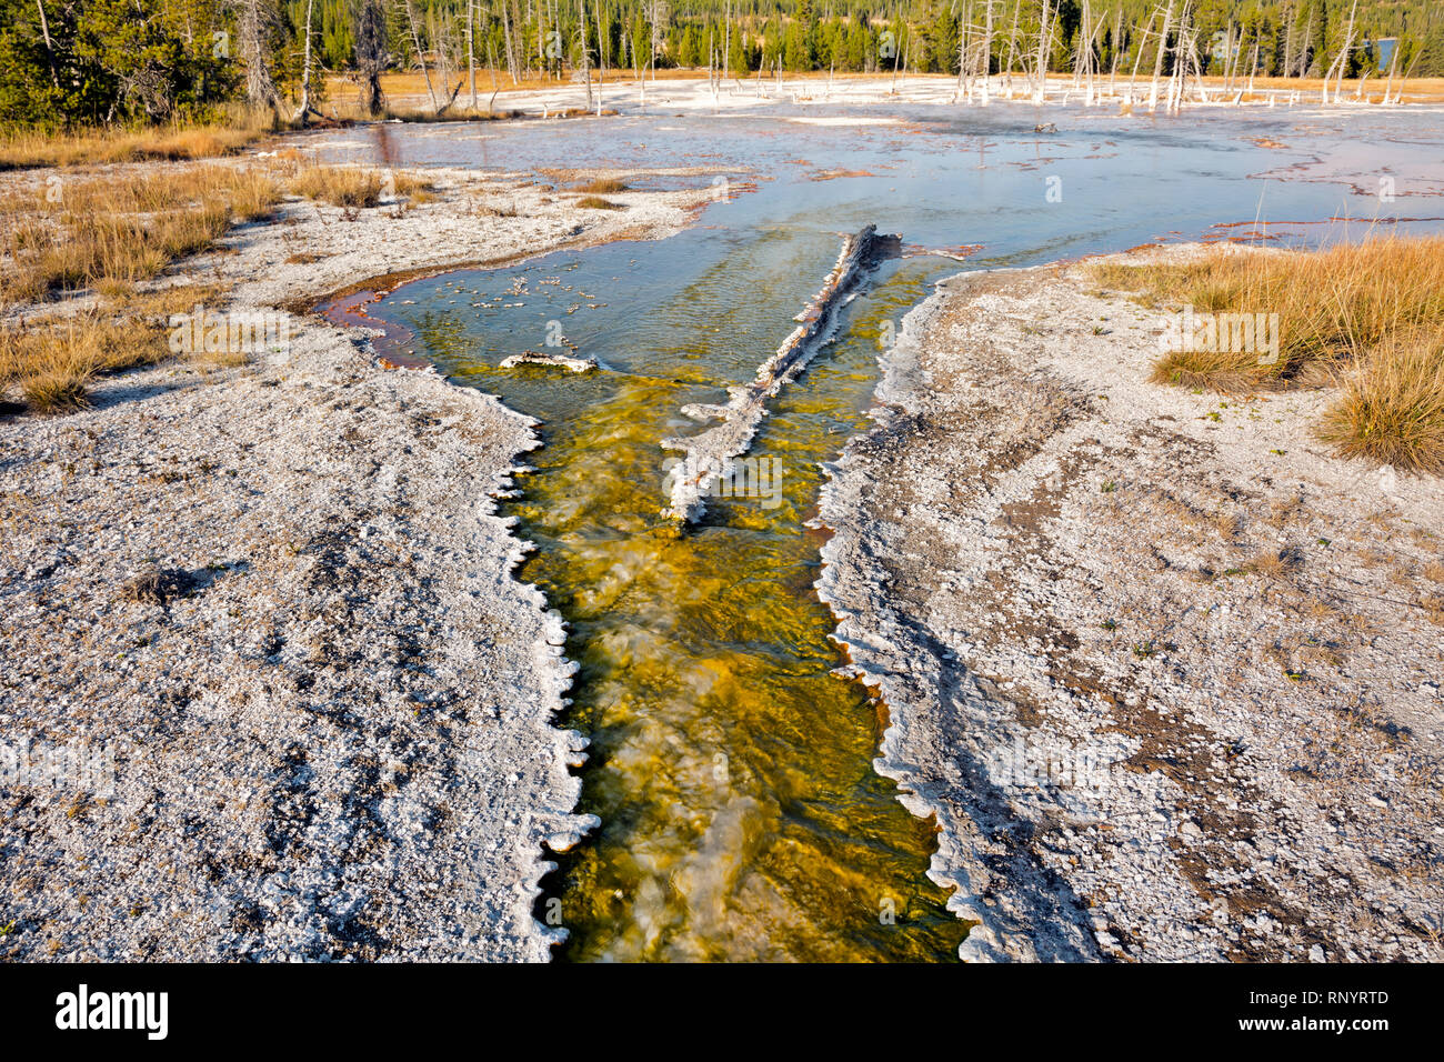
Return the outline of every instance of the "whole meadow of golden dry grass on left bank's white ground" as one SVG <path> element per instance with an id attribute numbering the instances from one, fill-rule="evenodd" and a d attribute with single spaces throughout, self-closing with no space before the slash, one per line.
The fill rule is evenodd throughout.
<path id="1" fill-rule="evenodd" d="M 170 357 L 170 315 L 218 292 L 144 282 L 209 249 L 232 224 L 269 215 L 287 192 L 347 210 L 391 192 L 407 207 L 435 198 L 425 175 L 325 166 L 300 152 L 13 185 L 0 195 L 0 302 L 97 298 L 82 312 L 4 329 L 0 397 L 14 389 L 32 410 L 65 412 L 85 403 L 97 374 Z"/>

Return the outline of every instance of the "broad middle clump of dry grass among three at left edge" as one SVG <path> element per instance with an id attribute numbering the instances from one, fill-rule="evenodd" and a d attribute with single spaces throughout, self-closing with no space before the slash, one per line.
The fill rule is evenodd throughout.
<path id="1" fill-rule="evenodd" d="M 264 217 L 279 198 L 269 173 L 214 165 L 46 184 L 0 208 L 0 298 L 124 289 L 205 250 L 232 223 Z"/>

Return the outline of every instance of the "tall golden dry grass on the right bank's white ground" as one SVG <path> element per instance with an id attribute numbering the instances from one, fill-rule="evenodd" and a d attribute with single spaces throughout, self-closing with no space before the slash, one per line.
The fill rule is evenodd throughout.
<path id="1" fill-rule="evenodd" d="M 1154 380 L 1222 392 L 1333 383 L 1320 436 L 1340 454 L 1444 474 L 1444 237 L 1376 238 L 1321 251 L 1217 249 L 1181 264 L 1093 267 L 1145 305 L 1278 314 L 1279 357 L 1174 350 Z"/>

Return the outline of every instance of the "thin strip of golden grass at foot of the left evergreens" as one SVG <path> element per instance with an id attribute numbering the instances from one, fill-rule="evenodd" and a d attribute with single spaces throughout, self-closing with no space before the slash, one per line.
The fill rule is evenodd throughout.
<path id="1" fill-rule="evenodd" d="M 0 170 L 107 162 L 214 159 L 234 155 L 276 130 L 270 111 L 235 110 L 208 124 L 82 129 L 69 133 L 0 131 Z"/>

